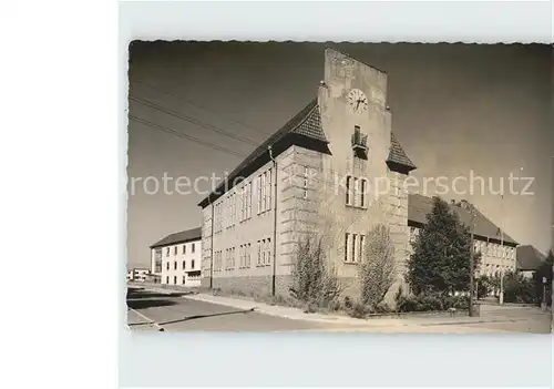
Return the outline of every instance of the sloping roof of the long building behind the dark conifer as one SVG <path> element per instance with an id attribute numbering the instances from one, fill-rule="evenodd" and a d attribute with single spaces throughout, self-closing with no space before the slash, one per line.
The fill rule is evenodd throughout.
<path id="1" fill-rule="evenodd" d="M 455 205 L 449 203 L 451 211 L 455 212 L 460 217 L 460 222 L 469 226 L 471 224 L 471 213 L 465 209 L 462 205 Z M 427 215 L 431 213 L 433 208 L 433 198 L 427 197 L 420 194 L 409 194 L 408 195 L 408 223 L 413 224 L 425 224 Z M 504 232 L 501 234 L 501 228 L 492 223 L 485 215 L 483 215 L 479 209 L 475 208 L 475 227 L 473 234 L 481 238 L 488 238 L 494 242 L 503 242 L 511 246 L 517 245 L 510 235 Z"/>

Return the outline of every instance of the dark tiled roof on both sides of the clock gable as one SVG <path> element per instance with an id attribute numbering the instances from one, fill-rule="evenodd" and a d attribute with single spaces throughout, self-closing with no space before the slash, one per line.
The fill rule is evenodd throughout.
<path id="1" fill-rule="evenodd" d="M 317 99 L 315 99 L 254 150 L 250 155 L 248 155 L 214 192 L 198 203 L 198 205 L 203 208 L 206 207 L 211 202 L 216 201 L 222 194 L 230 190 L 232 183 L 238 184 L 239 180 L 235 178 L 247 177 L 267 163 L 269 161 L 269 146 L 271 146 L 273 156 L 275 157 L 294 144 L 330 153 L 327 147 L 328 143 L 321 125 L 319 105 Z M 393 134 L 391 134 L 391 147 L 387 164 L 391 170 L 401 171 L 403 173 L 408 173 L 416 168 L 416 165 L 413 165 L 406 155 L 402 146 Z"/>

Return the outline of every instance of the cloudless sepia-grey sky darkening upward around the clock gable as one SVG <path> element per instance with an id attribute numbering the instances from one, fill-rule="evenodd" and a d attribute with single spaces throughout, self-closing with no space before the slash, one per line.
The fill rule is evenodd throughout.
<path id="1" fill-rule="evenodd" d="M 473 174 L 497 192 L 502 181 L 509 190 L 511 173 L 531 177 L 515 182 L 520 194 L 506 193 L 504 199 L 482 193 L 479 184 L 474 193 L 443 197 L 473 203 L 520 244 L 543 253 L 552 246 L 554 68 L 548 45 L 134 42 L 129 62 L 130 267 L 148 266 L 148 246 L 164 236 L 201 226 L 197 203 L 204 195 L 176 187 L 177 177 L 181 184 L 222 177 L 316 98 L 327 47 L 387 72 L 392 131 L 418 166 L 411 175 L 419 183 Z M 173 178 L 166 180 L 166 191 L 164 174 Z M 456 187 L 469 188 L 463 182 Z M 201 182 L 197 188 L 209 186 Z M 430 183 L 425 194 L 435 190 Z"/>

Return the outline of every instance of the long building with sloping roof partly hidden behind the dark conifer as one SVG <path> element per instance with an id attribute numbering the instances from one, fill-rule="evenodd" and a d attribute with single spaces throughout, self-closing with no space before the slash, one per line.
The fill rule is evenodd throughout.
<path id="1" fill-rule="evenodd" d="M 424 226 L 427 215 L 431 212 L 432 206 L 433 199 L 431 197 L 420 194 L 410 194 L 408 196 L 410 240 L 413 240 L 419 231 Z M 493 277 L 506 274 L 507 272 L 514 272 L 516 267 L 517 242 L 507 234 L 502 233 L 500 227 L 475 207 L 473 207 L 474 212 L 472 216 L 470 206 L 471 204 L 466 201 L 450 203 L 450 209 L 456 213 L 460 221 L 466 226 L 471 225 L 473 217 L 473 245 L 475 252 L 481 253 L 479 274 Z"/>

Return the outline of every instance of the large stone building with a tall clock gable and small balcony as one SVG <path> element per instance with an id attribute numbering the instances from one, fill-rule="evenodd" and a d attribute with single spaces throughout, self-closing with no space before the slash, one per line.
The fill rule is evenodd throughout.
<path id="1" fill-rule="evenodd" d="M 388 296 L 403 284 L 409 232 L 402 183 L 416 166 L 391 131 L 387 74 L 332 49 L 325 51 L 324 74 L 317 98 L 198 204 L 203 285 L 286 295 L 295 248 L 316 233 L 325 237 L 345 294 L 358 296 L 365 234 L 378 222 L 391 228 L 397 248 Z M 390 188 L 368 191 L 379 178 Z"/>

